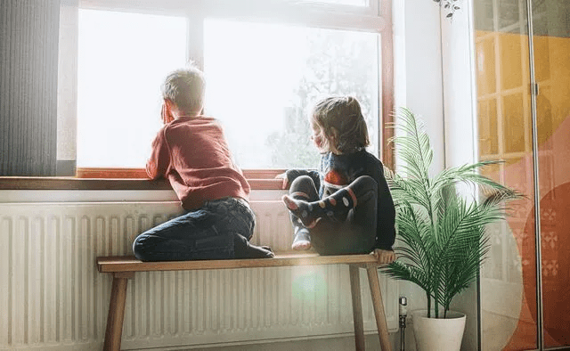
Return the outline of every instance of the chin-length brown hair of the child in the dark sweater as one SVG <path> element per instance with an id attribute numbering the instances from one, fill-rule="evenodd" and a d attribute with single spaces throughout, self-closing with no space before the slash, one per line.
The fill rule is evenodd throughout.
<path id="1" fill-rule="evenodd" d="M 322 127 L 329 149 L 331 136 L 336 141 L 332 146 L 342 153 L 360 151 L 371 143 L 360 103 L 353 96 L 322 99 L 314 104 L 311 118 Z"/>

